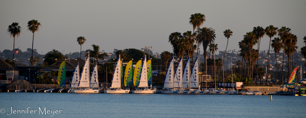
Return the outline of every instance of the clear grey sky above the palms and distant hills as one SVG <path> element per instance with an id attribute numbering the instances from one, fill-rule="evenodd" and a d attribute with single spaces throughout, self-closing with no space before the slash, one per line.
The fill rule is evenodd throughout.
<path id="1" fill-rule="evenodd" d="M 201 28 L 215 29 L 219 50 L 226 48 L 227 39 L 223 36 L 226 29 L 233 31 L 227 50 L 236 51 L 243 35 L 257 26 L 291 28 L 298 37 L 298 50 L 305 46 L 303 37 L 306 36 L 305 0 L 0 0 L 0 11 L 1 52 L 13 49 L 13 38 L 7 33 L 13 22 L 18 22 L 22 28 L 15 48 L 19 46 L 26 51 L 32 47 L 33 34 L 26 27 L 32 19 L 43 26 L 34 35 L 34 49 L 43 54 L 52 49 L 79 52 L 80 45 L 76 42 L 79 36 L 87 40 L 82 50 L 92 49 L 91 45 L 95 44 L 105 52 L 145 46 L 153 46 L 153 53 L 173 52 L 169 34 L 192 31 L 189 17 L 194 13 L 206 17 Z M 269 40 L 264 36 L 261 50 L 268 49 Z M 257 45 L 254 48 L 257 49 Z M 203 46 L 200 50 L 203 52 Z"/>

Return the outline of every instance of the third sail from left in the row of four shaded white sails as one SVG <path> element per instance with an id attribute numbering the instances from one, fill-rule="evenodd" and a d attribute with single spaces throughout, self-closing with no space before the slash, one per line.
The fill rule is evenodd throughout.
<path id="1" fill-rule="evenodd" d="M 189 57 L 186 61 L 186 65 L 183 71 L 183 81 L 182 81 L 182 88 L 190 87 L 190 61 Z"/>

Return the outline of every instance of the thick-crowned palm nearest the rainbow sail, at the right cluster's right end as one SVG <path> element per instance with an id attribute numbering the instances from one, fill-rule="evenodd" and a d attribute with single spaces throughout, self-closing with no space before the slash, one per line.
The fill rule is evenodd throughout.
<path id="1" fill-rule="evenodd" d="M 290 78 L 290 67 L 291 67 L 291 64 L 290 64 L 290 61 L 291 61 L 291 54 L 293 52 L 296 51 L 297 49 L 297 35 L 293 35 L 291 33 L 289 33 L 288 35 L 286 35 L 287 39 L 286 39 L 286 42 L 285 42 L 285 52 L 287 53 L 287 56 L 288 56 L 288 78 Z"/>

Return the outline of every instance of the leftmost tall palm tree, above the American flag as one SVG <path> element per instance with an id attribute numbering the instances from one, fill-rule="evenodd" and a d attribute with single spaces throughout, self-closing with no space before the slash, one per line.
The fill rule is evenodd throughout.
<path id="1" fill-rule="evenodd" d="M 14 38 L 14 45 L 13 45 L 13 51 L 15 50 L 15 37 L 17 36 L 17 38 L 19 37 L 20 33 L 21 33 L 21 27 L 18 26 L 17 22 L 13 22 L 11 25 L 9 25 L 9 28 L 7 29 L 7 32 L 9 33 L 9 37 Z M 13 53 L 13 62 L 14 62 L 14 53 Z M 18 60 L 19 61 L 19 60 Z"/>

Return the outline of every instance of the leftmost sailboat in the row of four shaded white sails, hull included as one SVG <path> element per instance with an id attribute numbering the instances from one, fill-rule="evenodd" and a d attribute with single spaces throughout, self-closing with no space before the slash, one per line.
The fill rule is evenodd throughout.
<path id="1" fill-rule="evenodd" d="M 169 63 L 166 76 L 164 79 L 164 84 L 162 85 L 162 90 L 160 91 L 162 94 L 179 94 L 179 89 L 174 89 L 174 73 L 173 73 L 173 57 Z"/>

